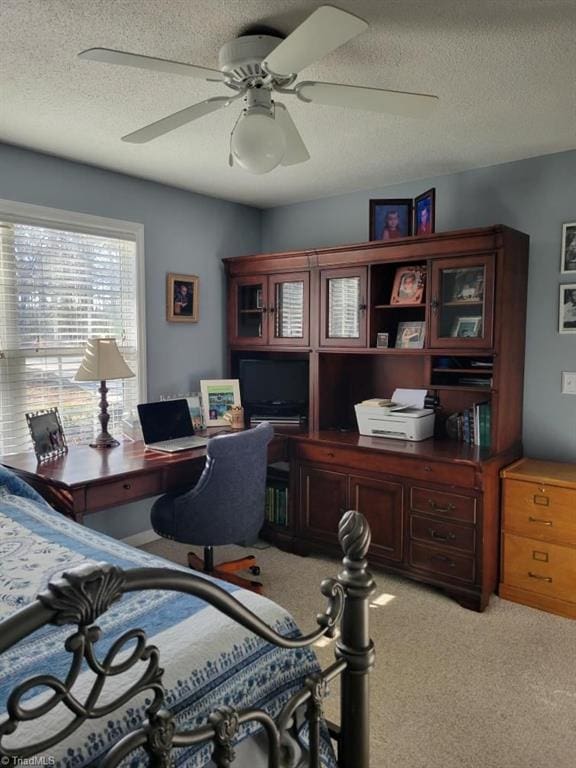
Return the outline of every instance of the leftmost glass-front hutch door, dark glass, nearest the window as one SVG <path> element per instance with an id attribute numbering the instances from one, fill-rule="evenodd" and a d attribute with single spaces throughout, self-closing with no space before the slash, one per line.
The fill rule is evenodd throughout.
<path id="1" fill-rule="evenodd" d="M 268 343 L 268 278 L 234 277 L 229 286 L 228 339 L 233 345 Z"/>

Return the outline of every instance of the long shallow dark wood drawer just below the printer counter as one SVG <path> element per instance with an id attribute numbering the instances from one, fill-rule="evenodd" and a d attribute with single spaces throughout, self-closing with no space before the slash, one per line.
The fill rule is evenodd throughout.
<path id="1" fill-rule="evenodd" d="M 296 442 L 294 455 L 300 461 L 311 464 L 338 465 L 351 470 L 379 472 L 414 480 L 429 480 L 447 485 L 458 485 L 464 488 L 473 488 L 475 484 L 475 471 L 472 466 L 418 460 L 382 450 L 337 448 L 302 440 Z"/>

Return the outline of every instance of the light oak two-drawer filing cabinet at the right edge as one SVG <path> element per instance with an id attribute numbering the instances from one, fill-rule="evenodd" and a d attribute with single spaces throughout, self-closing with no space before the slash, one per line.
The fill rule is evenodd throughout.
<path id="1" fill-rule="evenodd" d="M 576 464 L 520 459 L 501 477 L 500 596 L 576 619 Z"/>

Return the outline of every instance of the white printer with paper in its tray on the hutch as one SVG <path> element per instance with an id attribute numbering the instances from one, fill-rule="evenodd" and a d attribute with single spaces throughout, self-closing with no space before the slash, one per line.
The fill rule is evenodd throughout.
<path id="1" fill-rule="evenodd" d="M 354 406 L 358 431 L 370 437 L 427 440 L 434 435 L 434 411 L 423 408 L 425 390 L 397 389 L 392 400 L 374 398 Z"/>

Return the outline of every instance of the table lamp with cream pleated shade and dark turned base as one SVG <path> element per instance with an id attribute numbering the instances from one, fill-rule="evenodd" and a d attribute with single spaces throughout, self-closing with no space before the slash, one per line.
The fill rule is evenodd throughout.
<path id="1" fill-rule="evenodd" d="M 75 381 L 99 381 L 100 388 L 100 434 L 91 448 L 114 448 L 120 445 L 108 432 L 108 387 L 106 382 L 111 379 L 129 379 L 134 373 L 128 368 L 114 339 L 89 339 L 84 352 L 84 359 L 74 377 Z"/>

